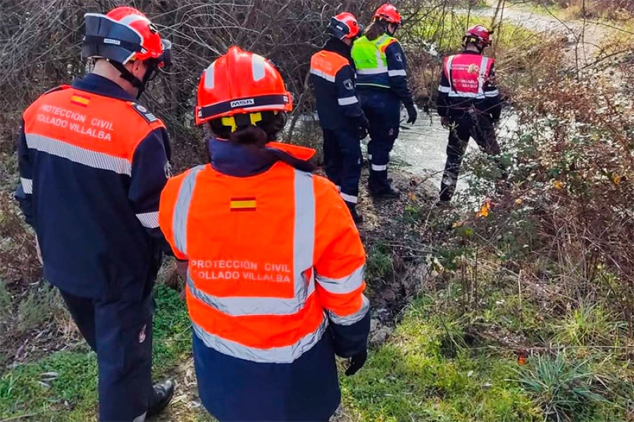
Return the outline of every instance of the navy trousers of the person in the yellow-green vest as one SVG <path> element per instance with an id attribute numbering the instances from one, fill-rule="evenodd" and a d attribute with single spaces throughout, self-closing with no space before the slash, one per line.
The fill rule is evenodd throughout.
<path id="1" fill-rule="evenodd" d="M 359 89 L 358 95 L 370 122 L 370 188 L 380 190 L 387 186 L 387 164 L 394 141 L 399 137 L 401 101 L 389 89 Z"/>

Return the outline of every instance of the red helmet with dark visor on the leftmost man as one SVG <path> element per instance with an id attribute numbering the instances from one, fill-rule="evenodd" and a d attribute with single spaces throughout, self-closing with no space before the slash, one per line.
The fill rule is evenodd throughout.
<path id="1" fill-rule="evenodd" d="M 137 9 L 121 6 L 106 15 L 86 13 L 84 58 L 107 58 L 125 65 L 133 60 L 155 60 L 159 68 L 171 64 L 171 43 Z"/>

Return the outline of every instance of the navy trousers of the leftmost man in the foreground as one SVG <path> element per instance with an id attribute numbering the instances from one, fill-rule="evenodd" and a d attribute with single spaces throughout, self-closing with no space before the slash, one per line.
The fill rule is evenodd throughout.
<path id="1" fill-rule="evenodd" d="M 152 392 L 151 292 L 139 302 L 104 302 L 60 290 L 77 328 L 97 353 L 99 421 L 133 421 Z"/>

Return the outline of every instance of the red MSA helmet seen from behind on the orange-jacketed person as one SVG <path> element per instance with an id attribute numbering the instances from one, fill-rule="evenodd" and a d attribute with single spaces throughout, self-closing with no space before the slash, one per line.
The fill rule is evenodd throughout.
<path id="1" fill-rule="evenodd" d="M 196 124 L 245 113 L 291 111 L 292 96 L 273 63 L 232 46 L 198 83 Z"/>

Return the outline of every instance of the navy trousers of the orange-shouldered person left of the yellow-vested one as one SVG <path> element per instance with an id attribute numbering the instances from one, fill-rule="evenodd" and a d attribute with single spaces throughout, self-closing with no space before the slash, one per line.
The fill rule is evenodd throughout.
<path id="1" fill-rule="evenodd" d="M 323 167 L 328 179 L 341 188 L 342 198 L 352 205 L 359 198 L 361 141 L 346 129 L 323 129 Z"/>

